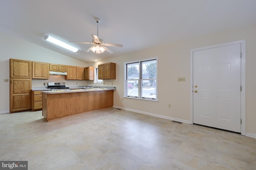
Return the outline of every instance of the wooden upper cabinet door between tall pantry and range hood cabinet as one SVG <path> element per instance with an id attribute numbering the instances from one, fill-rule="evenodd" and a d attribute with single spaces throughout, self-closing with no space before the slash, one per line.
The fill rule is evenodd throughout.
<path id="1" fill-rule="evenodd" d="M 50 64 L 32 62 L 32 79 L 49 79 Z"/>

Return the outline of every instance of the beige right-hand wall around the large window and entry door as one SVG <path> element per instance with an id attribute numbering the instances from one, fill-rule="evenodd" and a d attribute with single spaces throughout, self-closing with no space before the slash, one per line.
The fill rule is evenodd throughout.
<path id="1" fill-rule="evenodd" d="M 107 81 L 109 85 L 113 82 L 114 86 L 117 87 L 114 92 L 115 107 L 190 122 L 190 49 L 238 40 L 246 40 L 246 134 L 256 135 L 256 25 L 182 40 L 168 45 L 162 44 L 161 47 L 154 47 L 89 65 L 96 66 L 106 62 L 116 63 L 117 79 Z M 156 56 L 158 57 L 159 102 L 123 98 L 124 62 Z M 185 77 L 186 81 L 178 82 L 178 77 Z M 171 108 L 168 108 L 168 104 L 171 104 Z"/>

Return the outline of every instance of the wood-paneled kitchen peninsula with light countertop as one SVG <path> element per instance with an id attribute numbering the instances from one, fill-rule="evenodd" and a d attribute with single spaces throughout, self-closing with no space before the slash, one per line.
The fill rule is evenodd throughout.
<path id="1" fill-rule="evenodd" d="M 113 106 L 115 87 L 42 91 L 43 117 L 46 121 Z"/>

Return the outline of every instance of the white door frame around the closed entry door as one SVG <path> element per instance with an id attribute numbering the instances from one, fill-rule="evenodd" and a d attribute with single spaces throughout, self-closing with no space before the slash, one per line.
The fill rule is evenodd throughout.
<path id="1" fill-rule="evenodd" d="M 190 124 L 193 124 L 193 51 L 198 51 L 198 50 L 204 50 L 204 49 L 210 49 L 210 48 L 216 48 L 216 47 L 221 47 L 221 46 L 226 46 L 226 45 L 234 45 L 234 44 L 241 44 L 241 53 L 242 53 L 242 58 L 241 58 L 241 86 L 242 86 L 242 91 L 241 91 L 241 119 L 242 119 L 242 124 L 241 124 L 241 134 L 245 135 L 246 134 L 246 122 L 245 122 L 245 40 L 240 40 L 236 42 L 229 42 L 229 43 L 222 43 L 218 45 L 211 45 L 207 47 L 200 47 L 196 49 L 190 49 Z"/>

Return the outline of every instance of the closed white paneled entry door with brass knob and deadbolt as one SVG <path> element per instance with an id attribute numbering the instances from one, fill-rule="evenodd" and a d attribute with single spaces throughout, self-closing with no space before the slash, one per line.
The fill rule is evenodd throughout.
<path id="1" fill-rule="evenodd" d="M 241 132 L 241 46 L 193 51 L 193 123 Z"/>

